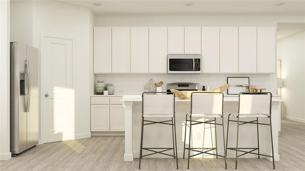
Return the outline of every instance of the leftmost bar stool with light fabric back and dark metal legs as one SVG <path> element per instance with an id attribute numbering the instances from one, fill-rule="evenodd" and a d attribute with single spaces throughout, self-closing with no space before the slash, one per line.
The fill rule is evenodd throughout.
<path id="1" fill-rule="evenodd" d="M 142 130 L 141 130 L 141 144 L 140 144 L 140 159 L 139 159 L 139 169 L 141 167 L 142 157 L 153 155 L 153 154 L 163 154 L 169 155 L 176 158 L 176 164 L 178 169 L 178 158 L 177 158 L 177 140 L 176 140 L 176 120 L 175 120 L 175 94 L 172 92 L 145 92 L 142 93 Z M 171 120 L 164 120 L 160 122 L 144 120 L 147 118 L 166 118 L 171 117 Z M 149 122 L 149 123 L 144 123 Z M 167 123 L 171 122 L 171 123 Z M 174 122 L 174 123 L 173 123 Z M 161 123 L 172 126 L 173 133 L 173 148 L 143 148 L 143 129 L 144 125 L 150 125 L 155 123 Z M 175 132 L 175 136 L 174 136 Z M 175 137 L 175 138 L 174 138 Z M 175 143 L 175 145 L 174 145 Z M 175 153 L 176 146 L 176 153 Z M 156 151 L 156 149 L 162 149 L 161 151 Z M 142 155 L 142 150 L 152 151 L 153 153 Z M 173 150 L 174 155 L 163 153 L 164 151 Z M 176 154 L 176 155 L 175 155 Z"/>

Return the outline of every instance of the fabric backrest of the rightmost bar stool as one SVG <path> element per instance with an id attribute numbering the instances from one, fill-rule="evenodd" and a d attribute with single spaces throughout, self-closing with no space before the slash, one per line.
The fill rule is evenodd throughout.
<path id="1" fill-rule="evenodd" d="M 271 114 L 270 92 L 264 93 L 239 93 L 238 112 L 242 114 Z"/>

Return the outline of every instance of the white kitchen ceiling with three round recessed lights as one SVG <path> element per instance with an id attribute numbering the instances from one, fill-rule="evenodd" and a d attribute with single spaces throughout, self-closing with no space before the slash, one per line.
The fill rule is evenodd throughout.
<path id="1" fill-rule="evenodd" d="M 305 16 L 305 0 L 55 0 L 96 16 Z M 92 5 L 102 3 L 101 6 Z M 185 6 L 186 2 L 194 5 Z M 274 3 L 285 2 L 283 6 Z"/>

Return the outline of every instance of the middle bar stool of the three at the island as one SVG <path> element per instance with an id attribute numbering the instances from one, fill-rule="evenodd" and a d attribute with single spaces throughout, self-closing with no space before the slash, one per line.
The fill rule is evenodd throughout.
<path id="1" fill-rule="evenodd" d="M 183 159 L 185 155 L 185 149 L 188 150 L 188 169 L 189 169 L 189 160 L 190 157 L 199 154 L 209 154 L 215 155 L 218 159 L 218 156 L 224 157 L 225 168 L 227 169 L 227 157 L 226 154 L 224 156 L 218 155 L 217 153 L 217 134 L 216 134 L 216 125 L 222 126 L 223 131 L 223 141 L 224 141 L 224 94 L 222 92 L 193 92 L 191 94 L 191 112 L 190 114 L 186 114 L 185 116 L 185 135 L 184 135 L 184 149 L 183 149 Z M 188 117 L 190 118 L 189 120 Z M 200 117 L 200 118 L 214 118 L 214 120 L 208 120 L 205 122 L 199 122 L 192 120 L 192 117 Z M 216 118 L 222 118 L 222 124 L 216 123 Z M 185 137 L 186 137 L 186 122 L 190 122 L 190 134 L 188 141 L 188 148 L 185 148 Z M 194 122 L 194 123 L 192 123 Z M 191 148 L 191 128 L 192 125 L 197 125 L 201 123 L 208 123 L 215 125 L 215 141 L 216 148 Z M 224 144 L 225 147 L 225 144 Z M 199 152 L 198 154 L 190 156 L 190 150 Z M 199 151 L 199 150 L 207 150 L 207 151 Z M 216 150 L 216 154 L 209 153 L 209 151 Z M 225 148 L 224 148 L 225 150 Z"/>

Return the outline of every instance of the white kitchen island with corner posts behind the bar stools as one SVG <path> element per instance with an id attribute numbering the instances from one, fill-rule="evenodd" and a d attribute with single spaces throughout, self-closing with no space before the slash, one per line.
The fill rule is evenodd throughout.
<path id="1" fill-rule="evenodd" d="M 124 161 L 133 161 L 133 158 L 139 157 L 140 151 L 140 137 L 141 137 L 141 117 L 142 117 L 142 97 L 126 97 L 121 100 L 125 105 L 125 154 Z M 271 122 L 272 122 L 272 133 L 273 133 L 273 145 L 274 145 L 274 160 L 279 161 L 278 155 L 278 131 L 280 117 L 280 102 L 282 100 L 272 98 L 271 106 Z M 183 146 L 184 146 L 184 135 L 185 126 L 187 126 L 186 135 L 188 139 L 189 134 L 189 122 L 185 124 L 185 115 L 190 112 L 190 102 L 191 100 L 181 100 L 176 98 L 175 100 L 175 117 L 176 117 L 176 131 L 177 131 L 177 151 L 178 157 L 183 157 Z M 227 124 L 228 115 L 230 113 L 237 114 L 238 110 L 238 96 L 225 96 L 224 97 L 224 130 L 225 137 L 227 137 Z M 196 118 L 195 118 L 196 119 Z M 232 117 L 232 119 L 234 119 Z M 244 119 L 244 118 L 243 118 Z M 162 120 L 162 119 L 160 119 Z M 160 121 L 156 119 L 156 121 Z M 198 121 L 203 121 L 203 119 L 198 118 Z M 205 119 L 207 121 L 209 119 Z M 237 120 L 237 118 L 236 118 Z M 246 118 L 245 121 L 251 121 L 253 118 Z M 221 123 L 221 119 L 216 119 L 217 123 Z M 269 123 L 267 118 L 259 118 L 261 123 Z M 230 122 L 229 137 L 228 137 L 228 148 L 236 147 L 236 131 L 237 123 Z M 224 155 L 223 149 L 223 135 L 222 126 L 217 126 L 217 147 L 218 154 Z M 163 124 L 152 124 L 144 126 L 143 133 L 143 147 L 172 147 L 172 130 L 168 128 L 168 125 Z M 271 155 L 271 137 L 270 137 L 270 127 L 260 125 L 259 126 L 259 140 L 260 140 L 260 154 Z M 188 146 L 188 141 L 186 142 Z M 211 124 L 198 124 L 192 126 L 191 134 L 191 146 L 196 148 L 214 148 L 215 144 L 215 128 Z M 239 131 L 239 148 L 250 148 L 257 147 L 257 129 L 256 124 L 244 124 L 240 126 Z M 215 151 L 214 151 L 215 152 Z M 143 150 L 143 155 L 149 154 L 149 151 Z M 168 154 L 172 154 L 172 151 L 168 151 Z M 227 157 L 235 158 L 235 151 L 228 150 Z M 186 152 L 187 156 L 187 152 Z M 154 154 L 150 155 L 153 157 L 163 157 L 168 158 L 167 155 Z M 212 155 L 196 155 L 196 158 L 213 158 Z M 245 158 L 257 158 L 257 155 L 246 154 L 242 157 Z M 261 156 L 263 157 L 263 156 Z M 266 157 L 269 160 L 272 158 Z"/>

